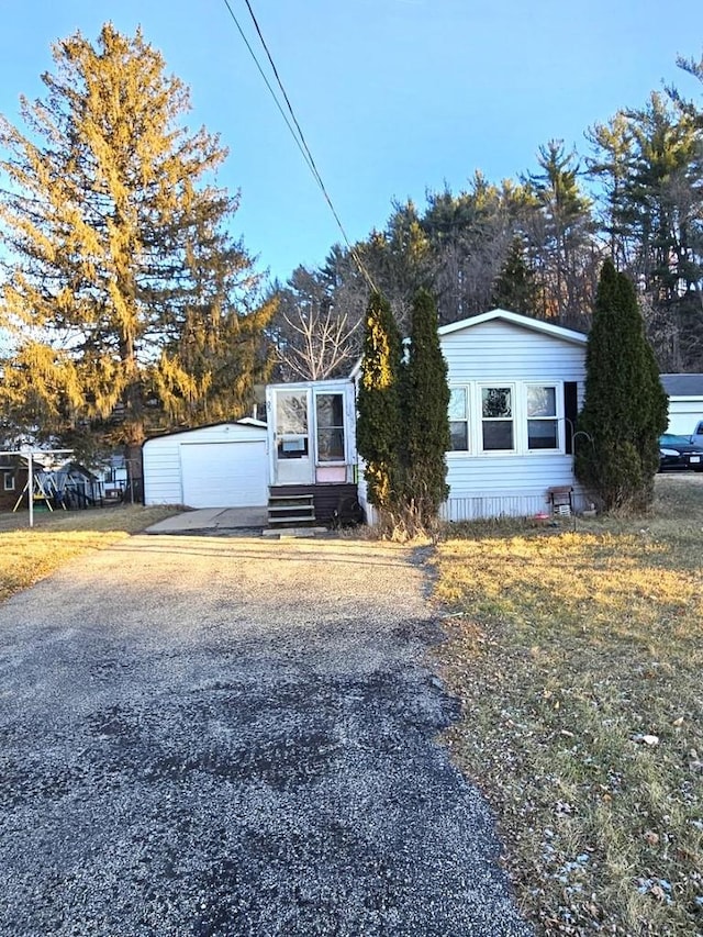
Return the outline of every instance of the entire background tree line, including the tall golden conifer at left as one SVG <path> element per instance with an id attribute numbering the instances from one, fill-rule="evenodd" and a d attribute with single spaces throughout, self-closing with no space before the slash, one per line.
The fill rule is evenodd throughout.
<path id="1" fill-rule="evenodd" d="M 411 330 L 503 306 L 588 331 L 604 258 L 636 285 L 662 370 L 703 370 L 703 111 L 674 88 L 559 141 L 500 185 L 395 204 L 354 250 L 267 287 L 233 235 L 226 150 L 137 31 L 53 48 L 44 96 L 0 116 L 0 435 L 86 458 L 250 412 L 254 388 L 348 373 L 369 278 Z M 703 59 L 681 60 L 703 81 Z M 365 268 L 361 271 L 358 260 Z M 368 275 L 368 276 L 367 276 Z"/>

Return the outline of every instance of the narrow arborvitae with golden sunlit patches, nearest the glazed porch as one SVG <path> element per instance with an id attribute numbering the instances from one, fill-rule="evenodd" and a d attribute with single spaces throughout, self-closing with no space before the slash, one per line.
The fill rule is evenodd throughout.
<path id="1" fill-rule="evenodd" d="M 400 495 L 401 348 L 390 304 L 373 293 L 365 321 L 356 434 L 366 462 L 368 499 L 381 513 L 391 511 Z"/>

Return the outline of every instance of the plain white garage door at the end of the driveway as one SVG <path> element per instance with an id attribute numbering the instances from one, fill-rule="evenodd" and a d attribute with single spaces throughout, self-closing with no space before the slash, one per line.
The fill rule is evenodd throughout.
<path id="1" fill-rule="evenodd" d="M 188 507 L 263 507 L 268 503 L 266 442 L 183 443 Z"/>

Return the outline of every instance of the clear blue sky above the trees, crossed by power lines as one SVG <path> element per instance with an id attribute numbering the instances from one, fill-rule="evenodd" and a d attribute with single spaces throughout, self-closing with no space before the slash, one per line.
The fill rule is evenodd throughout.
<path id="1" fill-rule="evenodd" d="M 231 5 L 254 42 L 244 0 Z M 250 0 L 325 185 L 352 239 L 393 199 L 424 203 L 476 169 L 492 181 L 536 167 L 561 138 L 637 107 L 662 81 L 701 100 L 676 57 L 700 58 L 701 0 Z M 219 181 L 241 189 L 235 223 L 260 269 L 286 279 L 341 241 L 223 0 L 3 2 L 0 111 L 42 93 L 51 44 L 111 20 L 141 24 L 191 89 L 189 122 L 230 148 Z M 568 11 L 568 12 L 567 12 Z M 261 60 L 264 54 L 261 52 Z"/>

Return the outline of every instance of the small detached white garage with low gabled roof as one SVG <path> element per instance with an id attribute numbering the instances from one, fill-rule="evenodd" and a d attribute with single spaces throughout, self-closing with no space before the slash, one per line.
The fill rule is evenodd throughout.
<path id="1" fill-rule="evenodd" d="M 144 503 L 187 507 L 268 504 L 266 423 L 241 420 L 147 439 Z"/>

